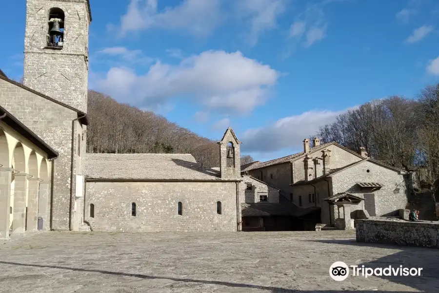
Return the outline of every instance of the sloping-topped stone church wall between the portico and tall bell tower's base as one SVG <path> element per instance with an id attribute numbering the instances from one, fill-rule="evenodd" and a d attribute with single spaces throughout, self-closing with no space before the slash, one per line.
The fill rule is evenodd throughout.
<path id="1" fill-rule="evenodd" d="M 59 152 L 54 162 L 52 229 L 69 230 L 72 121 L 78 114 L 1 79 L 0 101 L 7 111 Z"/>

